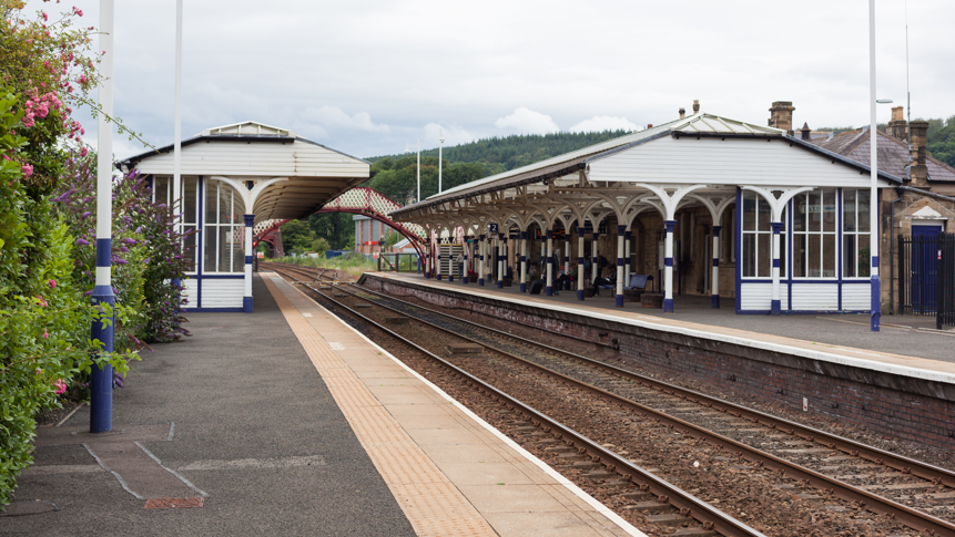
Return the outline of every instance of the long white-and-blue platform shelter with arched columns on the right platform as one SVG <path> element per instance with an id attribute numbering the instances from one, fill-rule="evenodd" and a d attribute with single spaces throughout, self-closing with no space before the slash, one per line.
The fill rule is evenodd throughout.
<path id="1" fill-rule="evenodd" d="M 880 188 L 901 184 L 880 172 Z M 856 161 L 784 130 L 695 111 L 390 216 L 473 240 L 478 285 L 494 275 L 501 287 L 512 267 L 525 290 L 536 258 L 549 296 L 573 260 L 589 259 L 591 270 L 572 282 L 585 300 L 612 270 L 600 269 L 606 256 L 619 307 L 637 273 L 662 283 L 664 311 L 685 293 L 710 295 L 713 308 L 732 298 L 738 313 L 862 312 L 871 306 L 870 186 L 870 168 Z"/>

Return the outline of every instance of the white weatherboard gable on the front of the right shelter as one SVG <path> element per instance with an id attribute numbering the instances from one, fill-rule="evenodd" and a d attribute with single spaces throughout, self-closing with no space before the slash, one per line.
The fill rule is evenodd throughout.
<path id="1" fill-rule="evenodd" d="M 865 188 L 868 174 L 781 140 L 663 136 L 589 164 L 591 182 Z M 880 182 L 882 186 L 888 184 Z"/>

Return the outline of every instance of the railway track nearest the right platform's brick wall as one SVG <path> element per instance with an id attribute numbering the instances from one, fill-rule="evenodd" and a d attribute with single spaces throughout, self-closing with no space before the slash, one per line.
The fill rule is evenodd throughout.
<path id="1" fill-rule="evenodd" d="M 304 277 L 315 272 L 282 267 Z M 319 278 L 321 279 L 321 276 Z M 339 287 L 341 290 L 344 290 Z M 928 535 L 955 535 L 955 526 L 928 509 L 948 512 L 955 474 L 859 442 L 640 375 L 602 361 L 491 329 L 364 288 L 364 299 L 538 368 L 590 390 L 657 423 L 724 450 L 754 471 L 768 468 L 811 485 L 826 496 Z M 349 291 L 352 295 L 355 291 Z M 380 303 L 387 301 L 392 306 Z M 518 355 L 518 353 L 520 355 Z M 926 493 L 927 490 L 927 493 Z M 887 493 L 887 494 L 876 494 Z M 921 492 L 923 494 L 912 494 Z M 894 494 L 893 494 L 894 493 Z M 946 502 L 947 500 L 947 502 Z M 910 504 L 905 505 L 903 502 Z"/>

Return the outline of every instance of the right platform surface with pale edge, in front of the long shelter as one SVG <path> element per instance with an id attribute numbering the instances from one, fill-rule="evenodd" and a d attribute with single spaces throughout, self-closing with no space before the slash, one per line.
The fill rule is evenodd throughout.
<path id="1" fill-rule="evenodd" d="M 712 338 L 836 363 L 859 365 L 890 373 L 955 383 L 955 331 L 920 329 L 912 318 L 883 316 L 880 332 L 870 330 L 870 318 L 861 314 L 736 314 L 732 299 L 722 308 L 710 308 L 710 297 L 677 297 L 674 312 L 642 308 L 637 302 L 614 303 L 609 290 L 600 297 L 577 300 L 573 290 L 547 297 L 520 292 L 520 288 L 497 288 L 495 282 L 478 286 L 456 279 L 450 282 L 416 273 L 368 272 L 369 276 L 429 286 L 460 293 L 485 296 L 515 303 L 581 313 L 654 329 Z M 924 323 L 924 319 L 916 318 Z M 933 322 L 934 323 L 934 322 Z"/>

